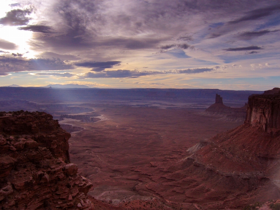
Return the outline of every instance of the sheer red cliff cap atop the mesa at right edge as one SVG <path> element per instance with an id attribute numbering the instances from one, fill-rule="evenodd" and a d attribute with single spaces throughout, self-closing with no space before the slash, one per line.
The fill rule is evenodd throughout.
<path id="1" fill-rule="evenodd" d="M 262 95 L 251 95 L 245 122 L 259 126 L 267 133 L 280 130 L 280 88 L 267 90 Z"/>

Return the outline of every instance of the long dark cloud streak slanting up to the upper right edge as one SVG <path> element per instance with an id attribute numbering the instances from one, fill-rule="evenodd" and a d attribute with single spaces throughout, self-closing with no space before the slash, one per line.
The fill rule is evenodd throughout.
<path id="1" fill-rule="evenodd" d="M 243 17 L 240 17 L 233 21 L 229 21 L 228 23 L 235 24 L 235 23 L 248 21 L 248 20 L 258 20 L 262 17 L 273 15 L 274 13 L 279 12 L 279 11 L 280 11 L 280 4 L 276 4 L 276 5 L 272 5 L 269 7 L 252 10 L 252 11 L 248 12 L 246 15 L 244 15 Z"/>

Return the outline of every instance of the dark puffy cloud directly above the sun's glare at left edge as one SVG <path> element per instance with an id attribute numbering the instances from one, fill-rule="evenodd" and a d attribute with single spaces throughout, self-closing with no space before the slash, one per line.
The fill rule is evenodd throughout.
<path id="1" fill-rule="evenodd" d="M 0 24 L 2 25 L 10 25 L 10 26 L 17 26 L 17 25 L 26 25 L 30 17 L 26 17 L 26 15 L 30 15 L 31 10 L 29 9 L 15 9 L 11 10 L 6 13 L 5 17 L 0 18 Z"/>

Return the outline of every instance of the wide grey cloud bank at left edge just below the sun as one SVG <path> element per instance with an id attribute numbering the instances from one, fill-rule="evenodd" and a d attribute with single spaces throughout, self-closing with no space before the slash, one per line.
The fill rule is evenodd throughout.
<path id="1" fill-rule="evenodd" d="M 12 71 L 47 71 L 65 69 L 74 69 L 74 67 L 60 59 L 26 59 L 22 57 L 0 56 L 0 74 Z"/>

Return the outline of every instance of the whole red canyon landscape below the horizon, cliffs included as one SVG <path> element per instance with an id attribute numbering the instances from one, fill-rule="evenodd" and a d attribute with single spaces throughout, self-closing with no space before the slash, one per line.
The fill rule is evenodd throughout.
<path id="1" fill-rule="evenodd" d="M 268 209 L 280 197 L 279 90 L 46 103 L 3 88 L 1 208 Z"/>

